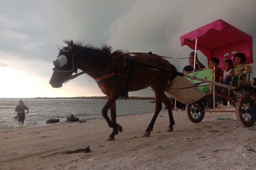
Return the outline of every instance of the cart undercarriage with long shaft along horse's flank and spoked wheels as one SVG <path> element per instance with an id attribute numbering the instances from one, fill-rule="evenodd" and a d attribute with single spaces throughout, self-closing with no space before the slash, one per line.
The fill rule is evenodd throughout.
<path id="1" fill-rule="evenodd" d="M 131 60 L 131 58 L 127 58 L 126 60 Z M 237 120 L 240 121 L 246 127 L 253 126 L 256 121 L 256 105 L 255 105 L 254 100 L 252 100 L 252 97 L 256 96 L 256 88 L 254 88 L 250 85 L 240 86 L 240 87 L 232 87 L 232 86 L 217 83 L 217 82 L 214 82 L 214 81 L 211 81 L 208 79 L 199 78 L 196 75 L 191 76 L 189 74 L 175 72 L 173 70 L 167 70 L 167 69 L 159 68 L 159 67 L 149 65 L 146 63 L 140 63 L 137 61 L 133 61 L 133 63 L 144 66 L 144 67 L 148 67 L 151 69 L 176 74 L 178 76 L 182 76 L 182 77 L 188 78 L 190 80 L 197 80 L 200 82 L 204 82 L 205 84 L 203 86 L 206 86 L 206 85 L 210 86 L 209 89 L 211 89 L 211 91 L 207 92 L 206 96 L 204 96 L 203 98 L 201 98 L 200 100 L 198 100 L 194 103 L 187 104 L 187 106 L 186 106 L 186 112 L 187 112 L 188 118 L 190 121 L 192 121 L 194 123 L 201 122 L 204 118 L 205 112 L 236 112 Z M 193 73 L 196 74 L 196 72 L 193 72 Z M 235 93 L 239 92 L 240 95 L 238 96 L 235 94 L 235 96 L 232 97 L 230 94 L 228 94 L 228 96 L 225 96 L 223 94 L 217 94 L 214 92 L 215 85 L 232 89 Z M 216 98 L 218 100 L 228 100 L 229 102 L 232 103 L 232 105 L 234 107 L 236 107 L 236 110 L 235 111 L 232 111 L 232 110 L 205 110 L 204 103 L 207 101 L 215 101 Z M 237 98 L 239 98 L 239 99 L 237 100 Z"/>

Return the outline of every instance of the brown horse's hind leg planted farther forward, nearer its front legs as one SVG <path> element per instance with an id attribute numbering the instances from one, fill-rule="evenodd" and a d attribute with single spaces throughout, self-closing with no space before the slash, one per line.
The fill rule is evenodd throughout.
<path id="1" fill-rule="evenodd" d="M 159 114 L 159 112 L 162 109 L 162 97 L 161 97 L 161 91 L 162 89 L 154 88 L 155 92 L 155 102 L 156 102 L 156 107 L 155 107 L 155 114 L 151 120 L 151 122 L 148 125 L 148 128 L 146 129 L 144 135 L 142 137 L 149 137 L 150 132 L 153 130 L 154 124 L 156 122 L 156 118 Z M 163 91 L 164 92 L 164 91 Z"/>

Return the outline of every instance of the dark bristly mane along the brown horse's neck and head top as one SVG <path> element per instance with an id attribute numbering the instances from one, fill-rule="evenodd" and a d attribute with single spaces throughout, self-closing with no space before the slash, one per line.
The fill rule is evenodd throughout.
<path id="1" fill-rule="evenodd" d="M 63 42 L 68 45 L 70 40 L 63 40 Z M 111 53 L 113 47 L 107 44 L 101 44 L 101 46 L 100 48 L 92 44 L 85 44 L 83 41 L 75 41 L 71 47 L 75 51 L 74 55 L 79 54 L 94 66 L 110 61 L 113 56 L 124 54 L 122 50 L 116 50 Z"/>

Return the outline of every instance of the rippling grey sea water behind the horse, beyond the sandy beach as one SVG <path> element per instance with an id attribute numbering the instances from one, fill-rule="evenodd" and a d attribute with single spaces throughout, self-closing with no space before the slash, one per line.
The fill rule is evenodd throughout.
<path id="1" fill-rule="evenodd" d="M 45 120 L 57 118 L 60 119 L 59 123 L 67 123 L 66 117 L 70 114 L 78 117 L 79 120 L 103 118 L 101 110 L 107 102 L 106 99 L 21 99 L 29 109 L 21 126 L 18 125 L 17 119 L 12 119 L 17 115 L 14 109 L 19 100 L 0 98 L 0 129 L 48 126 L 53 123 L 45 123 Z M 116 115 L 154 113 L 155 103 L 149 101 L 152 100 L 116 100 Z M 108 115 L 110 116 L 110 111 Z"/>

